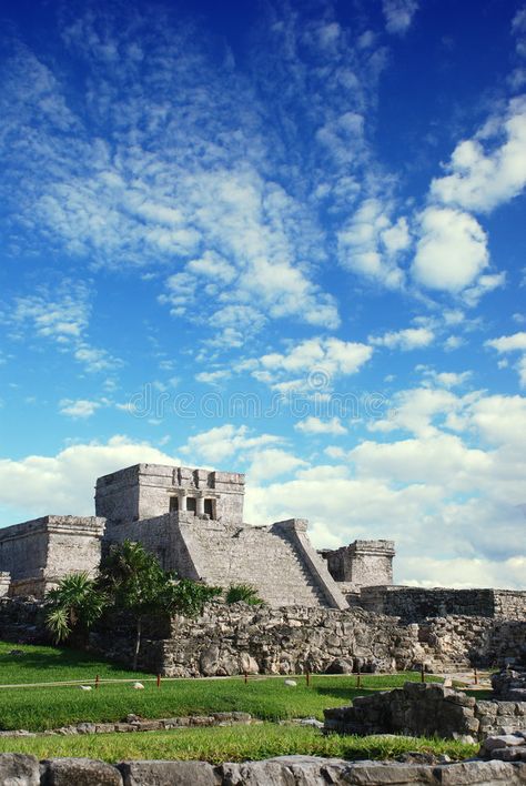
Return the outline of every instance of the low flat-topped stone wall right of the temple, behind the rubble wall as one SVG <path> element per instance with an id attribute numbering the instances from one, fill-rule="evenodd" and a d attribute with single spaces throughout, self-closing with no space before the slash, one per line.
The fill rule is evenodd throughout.
<path id="1" fill-rule="evenodd" d="M 512 590 L 368 586 L 363 587 L 360 597 L 353 602 L 370 612 L 401 616 L 411 622 L 455 614 L 526 619 L 526 592 Z"/>

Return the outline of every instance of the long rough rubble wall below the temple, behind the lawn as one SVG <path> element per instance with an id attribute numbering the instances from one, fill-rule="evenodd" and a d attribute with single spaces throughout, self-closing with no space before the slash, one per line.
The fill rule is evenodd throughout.
<path id="1" fill-rule="evenodd" d="M 93 633 L 97 652 L 131 662 L 132 634 Z M 526 655 L 526 623 L 455 617 L 405 624 L 362 609 L 254 608 L 210 604 L 199 619 L 175 617 L 141 649 L 142 668 L 166 676 L 407 671 L 442 673 L 500 665 Z"/>

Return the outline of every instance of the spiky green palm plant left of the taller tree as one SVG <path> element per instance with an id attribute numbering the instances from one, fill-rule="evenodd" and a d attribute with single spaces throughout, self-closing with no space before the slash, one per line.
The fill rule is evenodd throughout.
<path id="1" fill-rule="evenodd" d="M 45 625 L 55 644 L 69 638 L 73 631 L 85 634 L 108 603 L 97 581 L 84 572 L 61 578 L 58 587 L 48 593 L 47 599 L 50 608 Z"/>

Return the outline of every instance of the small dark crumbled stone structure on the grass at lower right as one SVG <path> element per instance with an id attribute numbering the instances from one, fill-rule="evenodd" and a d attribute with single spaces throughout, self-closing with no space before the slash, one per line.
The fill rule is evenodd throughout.
<path id="1" fill-rule="evenodd" d="M 485 739 L 526 733 L 525 702 L 477 702 L 438 683 L 406 683 L 403 688 L 357 696 L 348 707 L 325 709 L 326 732 L 404 734 Z"/>

